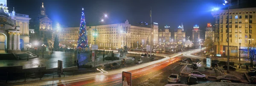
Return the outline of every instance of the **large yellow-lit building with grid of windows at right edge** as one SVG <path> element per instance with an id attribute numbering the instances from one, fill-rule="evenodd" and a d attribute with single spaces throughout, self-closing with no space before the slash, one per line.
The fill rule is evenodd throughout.
<path id="1" fill-rule="evenodd" d="M 247 45 L 253 42 L 253 37 L 256 37 L 256 8 L 230 9 L 229 13 L 228 10 L 212 11 L 212 16 L 215 17 L 216 54 L 227 55 L 227 27 L 229 27 L 230 56 L 239 55 L 239 43 L 241 43 L 241 57 L 245 57 Z"/>

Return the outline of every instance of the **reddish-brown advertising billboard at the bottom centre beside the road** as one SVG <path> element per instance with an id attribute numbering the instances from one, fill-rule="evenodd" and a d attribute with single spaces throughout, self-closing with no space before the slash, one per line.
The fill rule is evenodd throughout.
<path id="1" fill-rule="evenodd" d="M 131 72 L 122 72 L 122 86 L 131 86 Z"/>

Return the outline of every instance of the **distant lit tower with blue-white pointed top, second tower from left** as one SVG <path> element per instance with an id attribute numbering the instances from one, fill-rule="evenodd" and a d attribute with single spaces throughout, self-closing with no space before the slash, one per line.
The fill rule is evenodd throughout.
<path id="1" fill-rule="evenodd" d="M 183 30 L 183 24 L 181 24 L 181 26 L 178 26 L 177 32 L 174 33 L 175 43 L 181 44 L 185 42 L 186 32 L 183 32 Z"/>

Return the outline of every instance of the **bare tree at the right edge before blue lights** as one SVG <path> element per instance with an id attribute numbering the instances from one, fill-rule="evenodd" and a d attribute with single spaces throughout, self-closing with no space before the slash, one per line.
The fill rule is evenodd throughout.
<path id="1" fill-rule="evenodd" d="M 251 64 L 251 67 L 253 67 L 253 60 L 254 60 L 254 57 L 256 56 L 256 42 L 250 43 L 247 46 L 248 46 L 250 64 Z"/>

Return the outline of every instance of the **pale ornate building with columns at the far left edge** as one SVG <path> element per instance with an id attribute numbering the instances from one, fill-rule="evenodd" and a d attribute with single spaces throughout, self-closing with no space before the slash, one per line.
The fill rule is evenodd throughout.
<path id="1" fill-rule="evenodd" d="M 0 0 L 0 49 L 20 52 L 29 44 L 29 15 L 9 13 L 6 0 Z M 25 47 L 25 48 L 24 48 Z"/>

